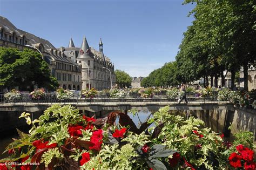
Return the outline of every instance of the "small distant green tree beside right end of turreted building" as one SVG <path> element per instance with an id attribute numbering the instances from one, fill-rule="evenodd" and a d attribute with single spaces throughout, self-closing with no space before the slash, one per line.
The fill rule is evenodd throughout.
<path id="1" fill-rule="evenodd" d="M 129 74 L 122 70 L 115 70 L 114 74 L 116 74 L 118 87 L 125 88 L 131 86 L 132 78 L 129 76 Z"/>

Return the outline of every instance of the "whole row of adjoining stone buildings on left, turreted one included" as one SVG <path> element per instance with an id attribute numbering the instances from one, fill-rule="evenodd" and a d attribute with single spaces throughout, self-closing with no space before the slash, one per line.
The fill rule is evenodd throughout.
<path id="1" fill-rule="evenodd" d="M 14 47 L 23 50 L 28 47 L 39 50 L 48 63 L 51 76 L 56 77 L 59 86 L 68 90 L 81 90 L 95 87 L 98 90 L 110 88 L 110 73 L 112 83 L 116 81 L 114 65 L 103 54 L 103 43 L 100 39 L 99 51 L 89 47 L 84 37 L 82 46 L 75 47 L 72 38 L 68 47 L 56 48 L 48 40 L 19 30 L 7 18 L 0 16 L 0 47 Z M 89 66 L 90 74 L 88 75 Z M 106 67 L 107 69 L 104 69 Z"/>

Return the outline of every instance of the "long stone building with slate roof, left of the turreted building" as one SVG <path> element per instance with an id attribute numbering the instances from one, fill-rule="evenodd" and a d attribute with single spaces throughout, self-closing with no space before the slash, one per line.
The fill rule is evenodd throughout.
<path id="1" fill-rule="evenodd" d="M 64 52 L 57 50 L 48 40 L 17 29 L 2 16 L 0 16 L 0 46 L 14 47 L 19 50 L 26 47 L 32 50 L 38 49 L 48 63 L 51 75 L 57 78 L 60 86 L 69 90 L 81 89 L 82 74 L 79 64 L 66 57 Z"/>

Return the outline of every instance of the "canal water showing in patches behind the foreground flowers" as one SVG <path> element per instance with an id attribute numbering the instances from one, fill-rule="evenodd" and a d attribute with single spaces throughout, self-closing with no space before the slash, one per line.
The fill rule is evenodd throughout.
<path id="1" fill-rule="evenodd" d="M 139 127 L 140 126 L 140 122 L 144 123 L 145 121 L 147 121 L 147 119 L 152 117 L 151 113 L 152 112 L 148 111 L 148 110 L 139 111 L 138 112 L 139 118 L 138 118 L 137 115 L 133 115 L 130 112 L 128 112 L 127 114 L 133 120 L 134 124 L 136 124 L 137 127 Z M 171 114 L 183 115 L 183 117 L 185 117 L 185 119 L 187 119 L 189 116 L 191 116 L 191 114 L 189 114 L 187 111 L 172 111 Z M 195 116 L 195 115 L 193 115 L 193 116 Z M 211 120 L 211 118 L 209 118 L 208 120 L 207 119 L 202 119 L 202 120 L 205 121 L 206 125 L 208 127 L 211 127 L 213 131 L 215 131 L 215 132 L 223 131 L 223 127 L 222 126 L 216 126 L 216 124 L 218 124 L 218 123 L 214 122 L 214 120 Z M 153 124 L 151 126 L 153 126 Z M 19 130 L 22 130 L 23 132 L 28 133 L 29 126 L 19 127 Z M 5 149 L 5 147 L 8 146 L 8 144 L 11 141 L 13 141 L 12 138 L 18 138 L 18 134 L 17 134 L 16 130 L 6 131 L 2 135 L 0 135 L 0 159 L 5 158 L 6 156 L 8 156 L 8 154 L 6 154 L 6 153 L 2 154 L 2 153 L 3 153 L 4 149 Z M 229 139 L 227 139 L 227 140 L 229 140 Z"/>

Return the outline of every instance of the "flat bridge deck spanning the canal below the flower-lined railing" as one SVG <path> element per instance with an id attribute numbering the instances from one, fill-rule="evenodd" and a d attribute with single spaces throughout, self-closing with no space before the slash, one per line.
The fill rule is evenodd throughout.
<path id="1" fill-rule="evenodd" d="M 156 99 L 155 99 L 156 100 Z M 138 110 L 157 111 L 159 108 L 169 105 L 170 110 L 231 110 L 234 111 L 233 104 L 228 101 L 190 101 L 188 104 L 176 101 L 147 99 L 142 101 L 122 101 L 122 100 L 108 100 L 90 102 L 62 102 L 62 103 L 4 103 L 0 104 L 0 111 L 28 111 L 37 112 L 44 111 L 53 104 L 72 105 L 81 111 L 99 112 L 99 111 L 113 111 L 113 110 L 130 110 L 137 108 Z"/>

